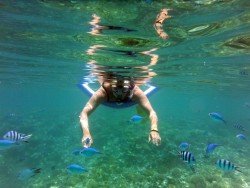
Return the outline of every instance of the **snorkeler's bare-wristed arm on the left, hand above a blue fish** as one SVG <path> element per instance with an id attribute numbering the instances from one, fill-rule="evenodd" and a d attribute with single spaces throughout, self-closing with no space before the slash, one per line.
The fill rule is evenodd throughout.
<path id="1" fill-rule="evenodd" d="M 85 107 L 83 108 L 79 116 L 82 132 L 83 132 L 82 144 L 84 147 L 90 147 L 90 145 L 93 143 L 93 139 L 89 131 L 88 116 L 96 109 L 96 107 L 104 99 L 105 99 L 105 93 L 103 92 L 103 89 L 100 88 L 89 99 L 89 101 L 86 103 Z"/>

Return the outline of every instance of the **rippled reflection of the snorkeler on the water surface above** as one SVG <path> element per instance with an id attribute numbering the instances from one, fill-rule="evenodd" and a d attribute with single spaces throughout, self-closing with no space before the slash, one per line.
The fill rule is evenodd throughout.
<path id="1" fill-rule="evenodd" d="M 169 9 L 161 9 L 157 14 L 152 27 L 162 39 L 167 39 L 168 34 L 163 30 L 163 22 L 170 18 L 168 15 Z M 101 17 L 97 14 L 92 14 L 92 19 L 89 22 L 91 30 L 88 32 L 93 37 L 102 37 L 104 30 L 116 30 L 119 32 L 136 32 L 135 29 L 101 24 Z M 98 41 L 95 39 L 94 41 Z M 98 80 L 99 83 L 110 81 L 117 76 L 130 77 L 138 85 L 148 83 L 157 74 L 153 71 L 159 60 L 159 55 L 156 54 L 158 48 L 147 50 L 114 48 L 103 44 L 91 45 L 86 50 L 88 56 L 87 68 L 89 75 L 85 80 Z M 91 79 L 91 80 L 90 80 Z"/>

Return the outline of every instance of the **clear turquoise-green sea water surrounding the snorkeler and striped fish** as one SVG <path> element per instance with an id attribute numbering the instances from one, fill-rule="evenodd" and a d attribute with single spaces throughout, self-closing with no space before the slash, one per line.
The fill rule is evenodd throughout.
<path id="1" fill-rule="evenodd" d="M 153 27 L 162 8 L 172 9 L 163 24 L 167 40 Z M 32 137 L 0 151 L 0 187 L 250 187 L 249 8 L 248 0 L 1 1 L 0 134 Z M 93 35 L 93 14 L 100 25 L 136 31 Z M 106 47 L 88 55 L 93 45 Z M 158 61 L 148 66 L 151 56 L 139 52 L 153 48 Z M 150 83 L 159 90 L 150 101 L 159 147 L 148 143 L 148 121 L 127 122 L 135 106 L 100 106 L 89 122 L 102 154 L 72 154 L 81 146 L 78 116 L 88 100 L 77 84 L 91 77 L 98 87 L 95 76 L 107 69 L 146 78 L 155 73 Z M 227 125 L 212 121 L 210 112 L 222 114 Z M 246 141 L 236 138 L 236 123 L 247 130 Z M 196 172 L 177 155 L 183 141 L 191 144 Z M 205 158 L 210 142 L 222 146 Z M 216 168 L 221 158 L 244 167 L 242 173 Z M 69 175 L 72 163 L 88 172 Z M 18 180 L 26 168 L 42 170 Z"/>

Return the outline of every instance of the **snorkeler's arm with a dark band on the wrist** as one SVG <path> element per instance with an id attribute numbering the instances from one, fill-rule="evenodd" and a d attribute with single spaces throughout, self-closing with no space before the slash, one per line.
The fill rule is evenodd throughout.
<path id="1" fill-rule="evenodd" d="M 152 108 L 147 96 L 143 93 L 143 91 L 139 87 L 135 88 L 134 99 L 149 115 L 149 119 L 151 122 L 149 141 L 152 141 L 152 143 L 155 145 L 159 145 L 161 142 L 161 138 L 158 131 L 158 117 L 156 112 Z"/>

